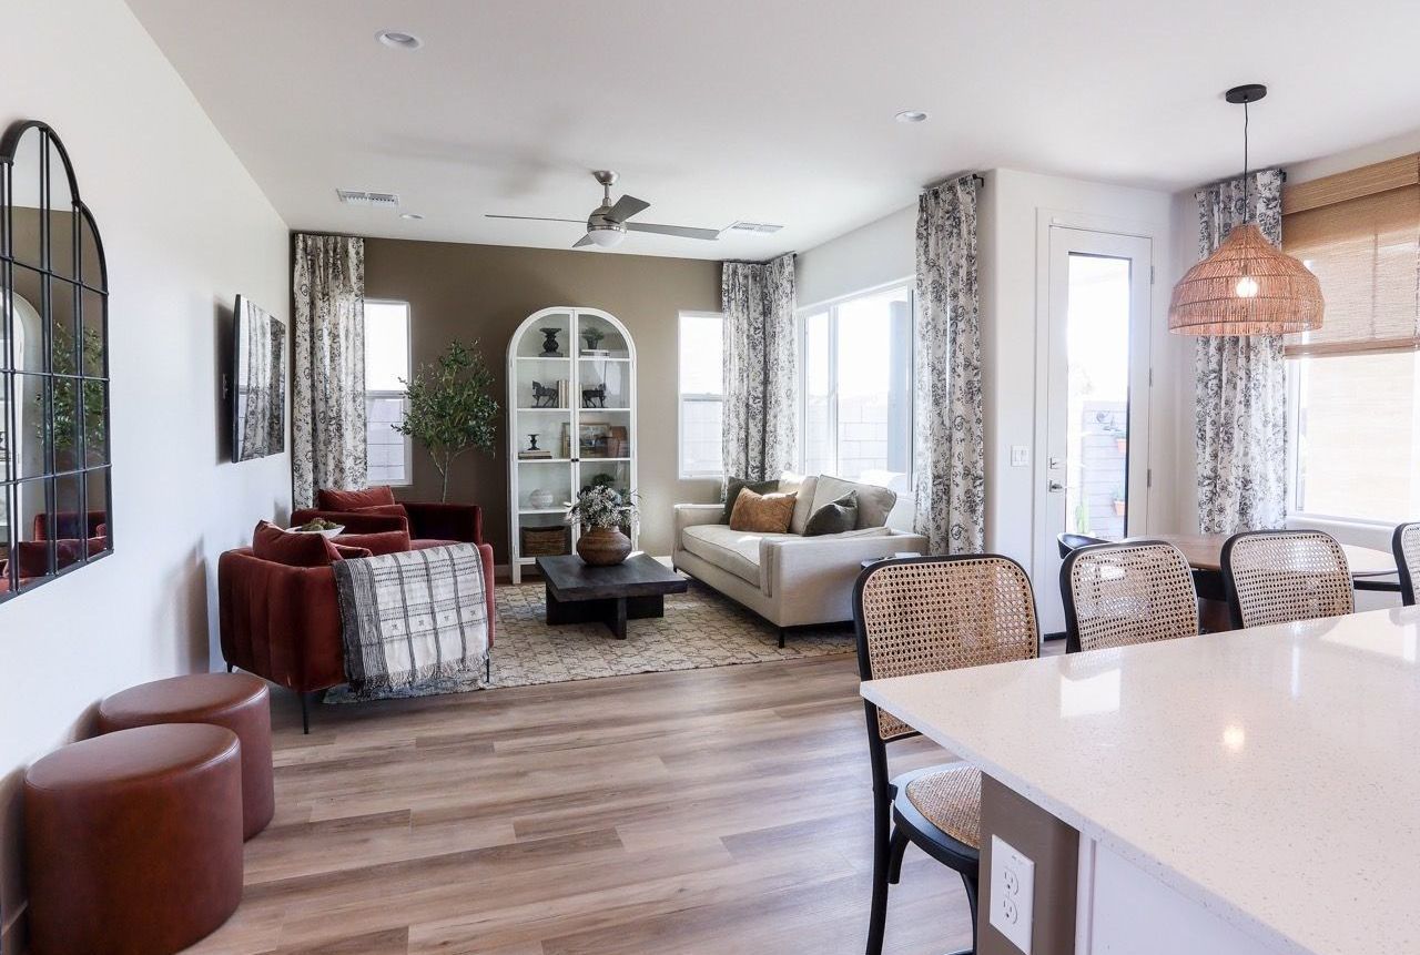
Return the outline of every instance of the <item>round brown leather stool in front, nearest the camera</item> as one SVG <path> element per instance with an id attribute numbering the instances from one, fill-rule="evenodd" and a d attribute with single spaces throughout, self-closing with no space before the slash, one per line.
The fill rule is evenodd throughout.
<path id="1" fill-rule="evenodd" d="M 31 955 L 170 955 L 241 901 L 241 744 L 222 727 L 85 739 L 24 773 Z"/>

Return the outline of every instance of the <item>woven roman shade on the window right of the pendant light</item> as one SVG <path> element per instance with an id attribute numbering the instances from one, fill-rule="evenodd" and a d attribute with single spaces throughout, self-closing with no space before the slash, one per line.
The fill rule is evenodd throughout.
<path id="1" fill-rule="evenodd" d="M 1420 348 L 1420 156 L 1288 186 L 1282 245 L 1326 294 L 1326 325 L 1288 335 L 1289 356 Z"/>

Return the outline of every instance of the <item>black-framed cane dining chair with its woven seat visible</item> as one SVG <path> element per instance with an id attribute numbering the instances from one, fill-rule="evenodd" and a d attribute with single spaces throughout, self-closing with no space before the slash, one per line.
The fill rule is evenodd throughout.
<path id="1" fill-rule="evenodd" d="M 853 587 L 853 624 L 863 680 L 1030 660 L 1041 644 L 1030 578 L 1015 561 L 991 553 L 873 563 Z M 889 778 L 888 744 L 917 731 L 868 700 L 863 710 L 873 775 L 868 955 L 882 952 L 888 885 L 902 876 L 907 843 L 961 876 L 974 952 L 981 773 L 956 762 Z"/>

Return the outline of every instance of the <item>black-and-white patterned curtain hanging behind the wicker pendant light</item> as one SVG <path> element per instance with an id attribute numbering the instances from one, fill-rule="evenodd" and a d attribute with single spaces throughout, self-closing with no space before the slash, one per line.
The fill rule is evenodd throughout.
<path id="1" fill-rule="evenodd" d="M 1252 220 L 1282 244 L 1282 173 L 1248 186 Z M 1242 180 L 1200 189 L 1198 258 L 1247 217 Z M 1234 534 L 1282 526 L 1287 518 L 1287 365 L 1279 335 L 1204 336 L 1194 346 L 1198 529 Z"/>

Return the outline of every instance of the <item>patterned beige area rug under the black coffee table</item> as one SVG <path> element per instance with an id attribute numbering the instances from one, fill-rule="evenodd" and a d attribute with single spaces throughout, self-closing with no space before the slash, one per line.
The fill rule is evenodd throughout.
<path id="1" fill-rule="evenodd" d="M 542 595 L 541 583 L 500 585 L 494 592 L 497 629 L 491 683 L 484 683 L 483 671 L 479 671 L 368 698 L 433 697 L 853 653 L 853 633 L 848 624 L 791 630 L 781 650 L 777 627 L 696 580 L 690 582 L 689 592 L 666 597 L 665 617 L 629 620 L 625 640 L 612 637 L 601 623 L 550 627 L 544 622 Z M 354 700 L 345 687 L 331 690 L 325 697 L 327 702 Z"/>

